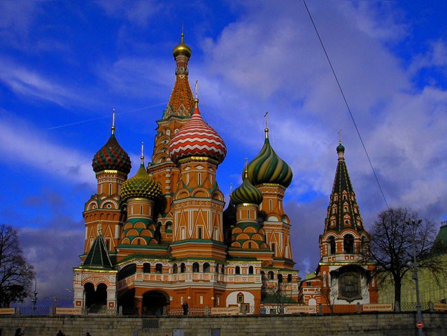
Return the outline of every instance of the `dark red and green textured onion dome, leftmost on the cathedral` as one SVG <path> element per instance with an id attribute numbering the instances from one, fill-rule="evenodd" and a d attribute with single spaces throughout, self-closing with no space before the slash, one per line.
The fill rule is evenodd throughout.
<path id="1" fill-rule="evenodd" d="M 109 169 L 129 174 L 132 167 L 131 159 L 116 140 L 113 130 L 114 127 L 112 127 L 112 134 L 107 143 L 93 157 L 91 167 L 95 173 Z"/>

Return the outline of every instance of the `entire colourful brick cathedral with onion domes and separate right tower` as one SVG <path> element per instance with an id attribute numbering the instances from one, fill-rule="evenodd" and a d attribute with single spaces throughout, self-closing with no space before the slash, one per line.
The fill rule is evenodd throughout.
<path id="1" fill-rule="evenodd" d="M 322 288 L 330 286 L 338 301 L 377 302 L 375 284 L 366 282 L 373 271 L 364 258 L 369 235 L 341 142 L 320 264 L 299 286 L 292 224 L 283 209 L 292 169 L 270 145 L 266 127 L 259 154 L 246 162 L 226 206 L 217 168 L 227 148 L 191 91 L 191 50 L 183 34 L 173 56 L 175 83 L 156 121 L 151 162 L 144 162 L 142 150 L 140 168 L 128 178 L 131 160 L 118 143 L 114 118 L 109 140 L 93 158 L 97 191 L 83 212 L 74 306 L 129 315 L 204 315 L 212 308 L 259 314 L 277 304 L 325 304 Z"/>

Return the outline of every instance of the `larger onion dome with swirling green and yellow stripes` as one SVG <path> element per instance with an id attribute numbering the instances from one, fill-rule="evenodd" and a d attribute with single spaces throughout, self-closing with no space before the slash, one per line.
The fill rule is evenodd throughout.
<path id="1" fill-rule="evenodd" d="M 248 179 L 252 185 L 272 183 L 289 187 L 292 182 L 292 169 L 275 153 L 268 140 L 265 129 L 265 142 L 259 154 L 248 163 Z"/>

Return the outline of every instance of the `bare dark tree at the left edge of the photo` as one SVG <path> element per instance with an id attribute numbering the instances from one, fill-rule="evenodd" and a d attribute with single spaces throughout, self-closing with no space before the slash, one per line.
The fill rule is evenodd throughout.
<path id="1" fill-rule="evenodd" d="M 23 302 L 30 292 L 33 266 L 26 262 L 19 246 L 17 231 L 0 225 L 0 307 Z"/>

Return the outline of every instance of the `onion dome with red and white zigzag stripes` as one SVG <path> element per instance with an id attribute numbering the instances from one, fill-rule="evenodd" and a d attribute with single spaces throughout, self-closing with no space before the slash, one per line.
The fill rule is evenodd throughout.
<path id="1" fill-rule="evenodd" d="M 191 156 L 205 156 L 221 163 L 227 154 L 226 145 L 221 136 L 201 118 L 198 105 L 196 98 L 193 116 L 169 144 L 169 156 L 173 162 Z"/>

